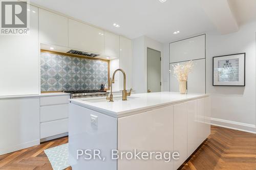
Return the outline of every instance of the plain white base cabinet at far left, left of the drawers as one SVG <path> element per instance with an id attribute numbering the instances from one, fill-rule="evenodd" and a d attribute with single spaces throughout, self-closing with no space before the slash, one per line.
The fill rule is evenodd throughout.
<path id="1" fill-rule="evenodd" d="M 40 143 L 39 98 L 0 99 L 0 155 Z"/>

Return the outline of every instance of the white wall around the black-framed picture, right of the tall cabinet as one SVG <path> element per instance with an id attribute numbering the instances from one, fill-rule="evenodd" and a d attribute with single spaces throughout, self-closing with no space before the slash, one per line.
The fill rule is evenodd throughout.
<path id="1" fill-rule="evenodd" d="M 243 131 L 256 133 L 255 100 L 255 32 L 256 22 L 241 26 L 236 33 L 221 35 L 206 33 L 206 93 L 211 95 L 211 123 Z M 164 62 L 168 62 L 167 44 L 164 44 Z M 212 86 L 212 57 L 246 53 L 246 86 Z M 169 73 L 164 67 L 163 78 Z M 168 89 L 165 82 L 163 89 Z"/>

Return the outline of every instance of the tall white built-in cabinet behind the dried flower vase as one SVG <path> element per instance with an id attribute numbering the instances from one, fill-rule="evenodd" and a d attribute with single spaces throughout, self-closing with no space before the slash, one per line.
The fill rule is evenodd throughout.
<path id="1" fill-rule="evenodd" d="M 179 91 L 179 82 L 173 75 L 173 65 L 193 60 L 187 92 L 205 93 L 205 35 L 169 43 L 170 91 Z"/>

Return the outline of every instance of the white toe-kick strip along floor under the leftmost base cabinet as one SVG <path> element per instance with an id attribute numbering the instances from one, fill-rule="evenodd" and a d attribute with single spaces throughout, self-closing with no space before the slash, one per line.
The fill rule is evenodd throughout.
<path id="1" fill-rule="evenodd" d="M 22 150 L 22 149 L 25 149 L 25 148 L 33 147 L 34 145 L 38 145 L 38 144 L 40 144 L 39 139 L 29 141 L 29 142 L 26 142 L 26 143 L 22 143 L 22 144 L 17 144 L 17 145 L 8 147 L 8 148 L 1 148 L 0 149 L 0 155 L 4 155 L 4 154 L 8 154 L 8 153 L 15 152 L 15 151 L 18 151 L 18 150 Z"/>

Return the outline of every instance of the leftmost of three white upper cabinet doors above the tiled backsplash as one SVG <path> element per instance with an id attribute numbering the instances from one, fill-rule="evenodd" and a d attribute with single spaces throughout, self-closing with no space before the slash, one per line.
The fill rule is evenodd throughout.
<path id="1" fill-rule="evenodd" d="M 68 46 L 68 18 L 39 9 L 39 42 Z"/>

